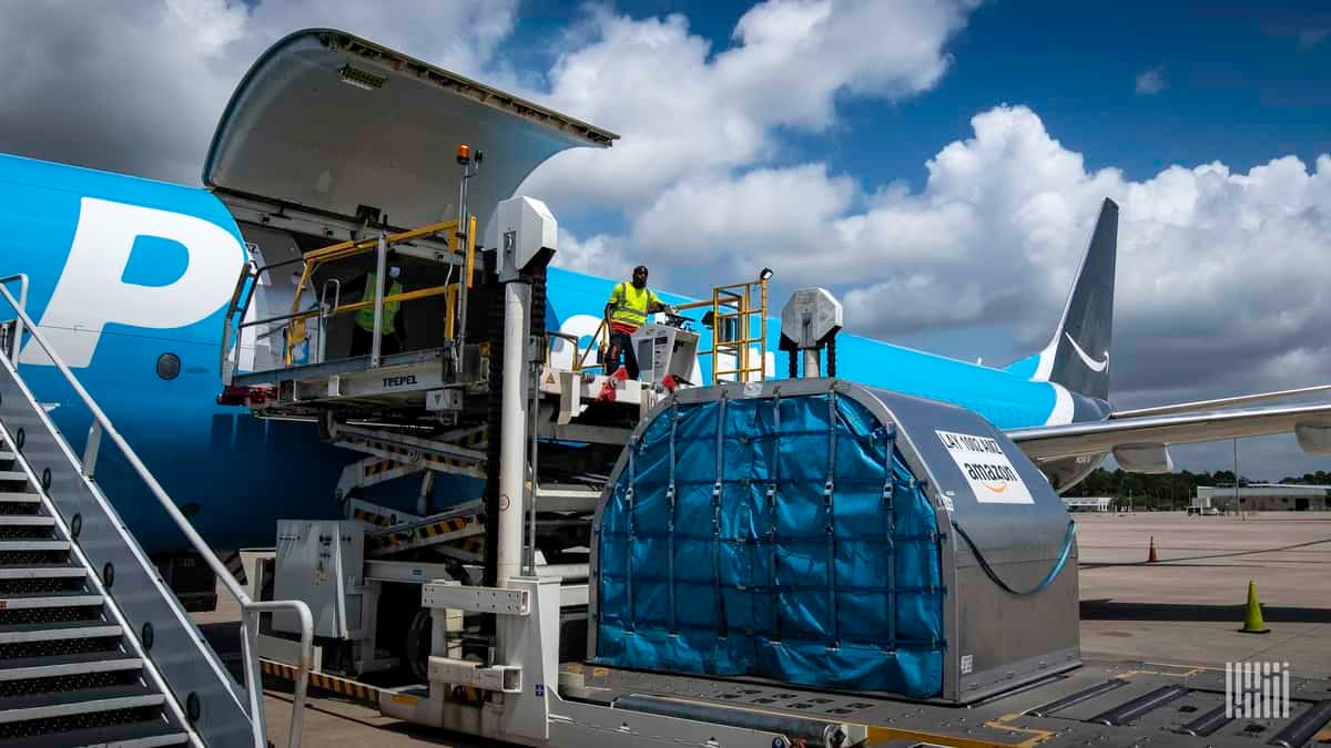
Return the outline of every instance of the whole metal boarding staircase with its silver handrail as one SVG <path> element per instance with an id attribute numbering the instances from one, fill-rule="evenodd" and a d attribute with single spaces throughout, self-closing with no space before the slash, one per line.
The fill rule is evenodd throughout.
<path id="1" fill-rule="evenodd" d="M 289 745 L 299 745 L 313 622 L 299 602 L 254 602 L 148 472 L 24 310 L 0 335 L 0 748 L 268 744 L 256 647 L 258 616 L 294 611 L 302 630 Z M 27 326 L 91 413 L 76 454 L 19 377 Z M 32 347 L 32 345 L 29 345 Z M 65 393 L 60 393 L 65 395 Z M 102 438 L 156 499 L 241 607 L 237 683 L 93 480 Z M 133 499 L 130 499 L 133 500 Z"/>

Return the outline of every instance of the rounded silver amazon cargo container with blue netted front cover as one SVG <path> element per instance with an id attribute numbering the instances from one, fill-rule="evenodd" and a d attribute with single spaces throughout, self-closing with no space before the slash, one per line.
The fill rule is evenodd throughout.
<path id="1" fill-rule="evenodd" d="M 972 411 L 836 379 L 681 390 L 602 496 L 590 659 L 973 701 L 1081 664 L 1074 530 Z"/>

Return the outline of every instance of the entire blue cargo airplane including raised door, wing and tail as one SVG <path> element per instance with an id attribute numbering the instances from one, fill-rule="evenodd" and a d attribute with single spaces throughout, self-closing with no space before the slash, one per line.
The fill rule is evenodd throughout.
<path id="1" fill-rule="evenodd" d="M 0 156 L 0 276 L 29 276 L 29 314 L 208 542 L 268 546 L 280 518 L 337 516 L 334 484 L 354 457 L 319 443 L 309 425 L 214 403 L 222 318 L 244 264 L 343 241 L 370 218 L 410 228 L 454 217 L 455 144 L 486 153 L 469 200 L 484 225 L 548 157 L 615 137 L 343 32 L 298 32 L 234 92 L 204 166 L 206 189 Z M 1113 410 L 1117 225 L 1106 200 L 1040 353 L 993 369 L 843 335 L 839 375 L 982 414 L 1059 490 L 1109 454 L 1127 468 L 1169 470 L 1173 443 L 1295 433 L 1304 450 L 1327 453 L 1331 406 L 1233 409 L 1326 387 Z M 551 269 L 547 326 L 590 341 L 614 282 Z M 287 310 L 293 289 L 262 278 L 256 313 Z M 429 310 L 411 307 L 407 327 L 425 327 Z M 775 321 L 769 330 L 776 350 Z M 280 349 L 262 335 L 241 345 L 253 367 L 272 367 Z M 88 417 L 49 359 L 29 343 L 19 371 L 80 449 Z M 145 550 L 182 547 L 126 466 L 104 455 L 97 479 Z"/>

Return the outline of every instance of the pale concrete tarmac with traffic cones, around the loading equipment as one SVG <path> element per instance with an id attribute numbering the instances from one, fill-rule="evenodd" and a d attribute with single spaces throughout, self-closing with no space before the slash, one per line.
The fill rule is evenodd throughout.
<path id="1" fill-rule="evenodd" d="M 1290 663 L 1291 675 L 1331 676 L 1331 512 L 1186 516 L 1077 514 L 1082 656 L 1087 660 L 1225 667 Z M 1159 560 L 1147 563 L 1151 538 Z M 1240 634 L 1248 580 L 1270 634 Z M 221 595 L 225 596 L 225 595 Z M 237 610 L 197 620 L 234 657 Z M 236 648 L 228 648 L 233 640 Z M 265 691 L 269 737 L 284 748 L 290 693 Z M 350 701 L 311 696 L 305 745 L 407 748 L 498 745 L 409 725 Z"/>

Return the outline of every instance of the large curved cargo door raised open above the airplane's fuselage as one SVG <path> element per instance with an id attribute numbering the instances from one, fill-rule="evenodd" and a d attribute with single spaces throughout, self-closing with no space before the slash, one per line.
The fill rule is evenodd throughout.
<path id="1" fill-rule="evenodd" d="M 459 144 L 484 153 L 467 205 L 483 230 L 546 158 L 615 133 L 330 29 L 265 52 L 232 94 L 204 164 L 214 192 L 394 226 L 458 217 Z M 482 234 L 483 236 L 483 234 Z"/>

